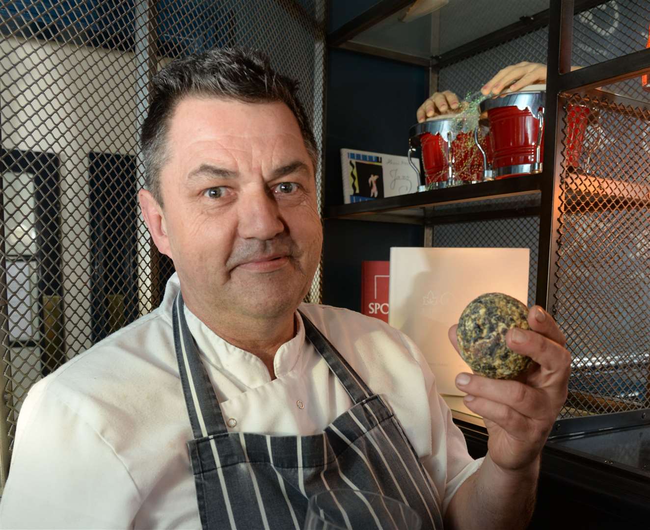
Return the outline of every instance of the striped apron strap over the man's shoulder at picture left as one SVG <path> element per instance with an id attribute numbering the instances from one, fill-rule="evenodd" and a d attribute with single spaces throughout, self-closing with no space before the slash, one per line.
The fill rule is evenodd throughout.
<path id="1" fill-rule="evenodd" d="M 179 291 L 174 300 L 172 321 L 178 370 L 185 394 L 185 405 L 192 424 L 194 438 L 227 433 L 224 415 L 214 394 L 214 388 L 198 355 L 194 337 L 185 320 L 183 296 Z"/>

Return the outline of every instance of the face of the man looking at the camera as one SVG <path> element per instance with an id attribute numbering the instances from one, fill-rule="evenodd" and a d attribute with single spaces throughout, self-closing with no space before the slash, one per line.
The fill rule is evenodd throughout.
<path id="1" fill-rule="evenodd" d="M 291 110 L 187 97 L 170 120 L 167 149 L 167 246 L 159 248 L 174 260 L 190 308 L 224 318 L 292 312 L 318 265 L 322 225 Z"/>

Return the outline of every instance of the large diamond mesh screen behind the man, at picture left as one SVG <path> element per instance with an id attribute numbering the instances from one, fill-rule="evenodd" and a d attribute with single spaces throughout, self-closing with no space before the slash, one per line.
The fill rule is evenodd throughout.
<path id="1" fill-rule="evenodd" d="M 0 5 L 3 470 L 30 386 L 154 309 L 172 273 L 136 202 L 151 76 L 214 46 L 262 49 L 300 81 L 320 146 L 323 22 L 321 0 Z M 319 269 L 310 301 L 320 285 Z"/>

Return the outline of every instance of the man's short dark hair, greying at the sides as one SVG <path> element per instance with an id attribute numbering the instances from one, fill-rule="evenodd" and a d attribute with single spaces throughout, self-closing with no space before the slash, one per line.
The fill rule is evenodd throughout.
<path id="1" fill-rule="evenodd" d="M 162 206 L 160 175 L 166 162 L 169 122 L 176 105 L 188 95 L 233 99 L 243 103 L 281 101 L 291 109 L 307 153 L 317 167 L 318 147 L 309 118 L 298 101 L 298 81 L 271 68 L 268 57 L 245 48 L 215 48 L 178 58 L 152 80 L 149 114 L 142 124 L 145 184 Z"/>

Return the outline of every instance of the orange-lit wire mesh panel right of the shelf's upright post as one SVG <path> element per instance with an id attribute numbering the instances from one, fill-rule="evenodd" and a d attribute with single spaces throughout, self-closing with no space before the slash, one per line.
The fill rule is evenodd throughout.
<path id="1" fill-rule="evenodd" d="M 650 407 L 650 110 L 571 94 L 554 309 L 573 357 L 564 417 Z"/>

